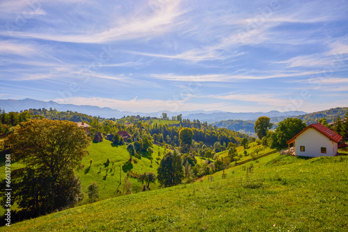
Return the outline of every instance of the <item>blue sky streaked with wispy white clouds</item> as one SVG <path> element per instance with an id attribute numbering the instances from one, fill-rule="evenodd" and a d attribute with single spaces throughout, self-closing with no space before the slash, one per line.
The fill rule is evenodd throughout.
<path id="1" fill-rule="evenodd" d="M 0 99 L 132 112 L 348 106 L 348 1 L 1 0 Z"/>

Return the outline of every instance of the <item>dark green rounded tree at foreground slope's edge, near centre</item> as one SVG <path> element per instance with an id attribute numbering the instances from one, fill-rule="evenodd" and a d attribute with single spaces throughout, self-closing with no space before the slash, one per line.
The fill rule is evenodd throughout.
<path id="1" fill-rule="evenodd" d="M 157 169 L 157 179 L 164 187 L 177 185 L 184 179 L 182 159 L 176 150 L 169 151 L 162 158 Z"/>

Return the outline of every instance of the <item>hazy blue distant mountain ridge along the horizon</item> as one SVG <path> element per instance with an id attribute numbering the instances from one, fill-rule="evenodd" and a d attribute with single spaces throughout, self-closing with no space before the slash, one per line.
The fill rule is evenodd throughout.
<path id="1" fill-rule="evenodd" d="M 230 113 L 219 110 L 204 111 L 182 111 L 182 112 L 170 112 L 170 111 L 160 111 L 155 113 L 140 113 L 140 112 L 129 112 L 115 110 L 109 107 L 100 108 L 99 106 L 77 106 L 73 104 L 63 104 L 57 103 L 55 101 L 39 101 L 35 99 L 0 99 L 0 108 L 5 109 L 6 112 L 19 112 L 20 110 L 28 110 L 29 108 L 56 108 L 58 111 L 72 110 L 79 113 L 84 113 L 86 115 L 100 116 L 105 118 L 121 118 L 127 115 L 140 115 L 140 116 L 151 116 L 151 117 L 161 117 L 162 113 L 167 113 L 168 117 L 176 116 L 182 114 L 183 118 L 186 119 L 198 119 L 201 122 L 218 122 L 226 119 L 242 119 L 242 120 L 255 120 L 260 116 L 267 117 L 289 117 L 296 115 L 304 115 L 306 112 L 303 111 L 289 111 L 281 113 L 279 111 L 273 110 L 268 113 L 255 112 L 255 113 Z"/>

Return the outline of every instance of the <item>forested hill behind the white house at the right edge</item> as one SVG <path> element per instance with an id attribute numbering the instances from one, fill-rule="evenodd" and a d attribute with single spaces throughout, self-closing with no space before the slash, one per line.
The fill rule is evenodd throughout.
<path id="1" fill-rule="evenodd" d="M 340 118 L 342 118 L 347 110 L 348 107 L 331 108 L 329 110 L 322 110 L 306 115 L 299 115 L 296 116 L 296 118 L 302 119 L 302 121 L 307 125 L 316 123 L 317 121 L 319 121 L 319 119 L 322 118 L 326 118 L 326 121 L 328 123 L 331 123 L 334 121 L 335 118 L 337 118 L 338 115 L 340 116 Z"/>

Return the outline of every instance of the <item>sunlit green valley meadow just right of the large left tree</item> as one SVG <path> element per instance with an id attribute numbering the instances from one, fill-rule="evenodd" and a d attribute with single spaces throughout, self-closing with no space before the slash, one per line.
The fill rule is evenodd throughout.
<path id="1" fill-rule="evenodd" d="M 153 149 L 154 153 L 152 154 L 152 164 L 150 157 L 133 157 L 132 162 L 129 162 L 127 144 L 116 147 L 108 140 L 104 140 L 103 142 L 99 143 L 91 143 L 90 147 L 88 148 L 89 155 L 86 156 L 81 162 L 84 167 L 82 169 L 77 168 L 75 170 L 75 173 L 79 176 L 79 179 L 81 179 L 83 191 L 87 192 L 88 185 L 96 182 L 100 189 L 100 199 L 108 199 L 118 195 L 115 192 L 120 181 L 122 182 L 128 170 L 136 174 L 141 174 L 144 172 L 157 173 L 159 160 L 156 160 L 156 158 L 158 157 L 161 159 L 164 156 L 164 148 L 154 145 Z M 160 151 L 161 156 L 158 156 L 158 151 Z M 109 165 L 105 165 L 108 158 Z M 93 159 L 91 166 L 89 163 L 90 159 Z M 133 193 L 141 190 L 141 183 L 138 183 L 137 179 L 129 178 L 129 181 L 132 183 Z M 150 188 L 156 189 L 158 188 L 158 185 L 150 184 Z M 80 204 L 86 204 L 88 202 L 87 198 L 88 197 L 84 197 Z"/>

